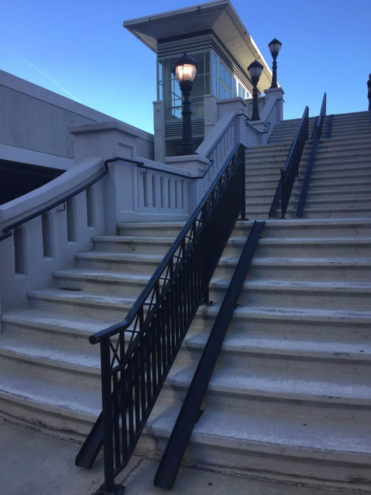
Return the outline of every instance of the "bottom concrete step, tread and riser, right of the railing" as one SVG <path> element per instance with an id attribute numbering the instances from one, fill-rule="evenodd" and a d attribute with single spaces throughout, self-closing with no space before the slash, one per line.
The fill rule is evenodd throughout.
<path id="1" fill-rule="evenodd" d="M 176 411 L 151 426 L 165 447 Z M 208 407 L 194 426 L 186 462 L 231 468 L 267 477 L 293 476 L 326 484 L 367 486 L 371 454 L 367 425 L 333 419 L 304 420 L 272 414 L 245 414 L 230 407 Z"/>

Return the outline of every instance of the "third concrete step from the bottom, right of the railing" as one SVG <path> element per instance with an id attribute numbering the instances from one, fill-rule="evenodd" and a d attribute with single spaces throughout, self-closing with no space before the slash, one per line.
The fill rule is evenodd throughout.
<path id="1" fill-rule="evenodd" d="M 299 332 L 299 330 L 298 330 Z M 193 337 L 186 337 L 186 345 L 192 350 L 195 360 L 198 361 L 204 349 L 209 332 L 199 332 Z M 281 333 L 259 335 L 250 330 L 236 330 L 234 325 L 228 330 L 223 348 L 218 358 L 218 373 L 229 373 L 230 368 L 236 368 L 249 380 L 249 370 L 264 372 L 266 378 L 276 379 L 276 374 L 268 375 L 268 370 L 276 370 L 278 374 L 287 373 L 293 380 L 292 373 L 300 373 L 302 380 L 319 380 L 320 387 L 329 377 L 336 377 L 338 383 L 345 385 L 346 380 L 356 370 L 357 375 L 363 376 L 364 385 L 370 388 L 367 376 L 371 366 L 370 339 L 338 341 L 327 339 L 324 341 L 319 335 L 312 334 L 311 338 L 281 337 Z M 305 372 L 305 373 L 304 373 Z M 233 373 L 232 373 L 233 374 Z M 346 375 L 346 380 L 343 380 Z M 286 377 L 285 380 L 288 380 Z M 291 383 L 292 385 L 292 383 Z M 350 385 L 348 394 L 352 392 Z M 273 388 L 273 392 L 276 388 Z M 291 388 L 293 392 L 294 388 Z M 365 388 L 363 388 L 363 392 Z M 307 388 L 306 393 L 312 394 L 313 389 Z M 225 393 L 225 390 L 224 390 Z M 343 392 L 343 395 L 347 395 Z M 351 397 L 351 395 L 350 395 Z M 367 396 L 364 396 L 367 400 Z M 332 397 L 329 397 L 331 400 Z M 368 397 L 370 400 L 370 396 Z M 367 404 L 367 402 L 365 402 Z M 369 404 L 370 405 L 370 404 Z M 368 406 L 367 406 L 368 407 Z"/>

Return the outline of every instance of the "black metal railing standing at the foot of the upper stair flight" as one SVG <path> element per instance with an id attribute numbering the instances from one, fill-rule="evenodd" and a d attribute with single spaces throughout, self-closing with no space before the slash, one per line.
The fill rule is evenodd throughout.
<path id="1" fill-rule="evenodd" d="M 283 219 L 285 217 L 288 202 L 290 201 L 291 192 L 293 190 L 295 177 L 298 177 L 302 151 L 304 150 L 305 141 L 308 139 L 308 115 L 309 108 L 305 107 L 298 132 L 296 133 L 295 139 L 291 144 L 285 166 L 281 169 L 281 178 L 278 182 L 276 194 L 274 195 L 271 210 L 269 211 L 269 216 L 276 216 L 278 203 L 281 200 L 281 218 Z"/>

